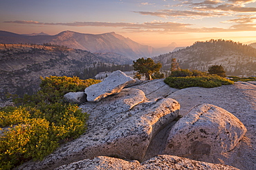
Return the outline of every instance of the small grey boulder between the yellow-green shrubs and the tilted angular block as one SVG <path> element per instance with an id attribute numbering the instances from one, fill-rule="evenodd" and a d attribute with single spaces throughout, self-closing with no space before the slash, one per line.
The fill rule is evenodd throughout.
<path id="1" fill-rule="evenodd" d="M 64 95 L 64 100 L 68 103 L 81 104 L 86 102 L 86 94 L 84 92 L 69 92 Z"/>

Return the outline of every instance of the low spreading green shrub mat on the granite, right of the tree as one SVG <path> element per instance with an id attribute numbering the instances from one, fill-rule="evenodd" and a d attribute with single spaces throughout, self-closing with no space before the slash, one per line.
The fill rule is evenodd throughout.
<path id="1" fill-rule="evenodd" d="M 231 85 L 232 81 L 220 76 L 187 76 L 165 78 L 165 83 L 170 87 L 183 89 L 187 87 L 219 87 L 221 85 Z"/>

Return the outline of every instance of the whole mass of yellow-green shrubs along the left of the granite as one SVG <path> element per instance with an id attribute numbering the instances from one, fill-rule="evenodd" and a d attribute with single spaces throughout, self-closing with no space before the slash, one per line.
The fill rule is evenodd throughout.
<path id="1" fill-rule="evenodd" d="M 0 169 L 12 169 L 31 159 L 42 160 L 62 142 L 84 133 L 89 115 L 77 105 L 63 103 L 62 98 L 67 92 L 84 91 L 99 82 L 66 76 L 42 78 L 37 94 L 14 98 L 19 107 L 2 108 L 0 127 L 5 130 L 0 134 Z"/>

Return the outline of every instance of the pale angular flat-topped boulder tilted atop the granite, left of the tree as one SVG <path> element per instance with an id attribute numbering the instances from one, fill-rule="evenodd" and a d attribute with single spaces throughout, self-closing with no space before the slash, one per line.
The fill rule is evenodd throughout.
<path id="1" fill-rule="evenodd" d="M 136 82 L 134 78 L 127 76 L 120 70 L 113 72 L 101 83 L 87 87 L 84 92 L 87 95 L 87 100 L 97 102 L 111 94 L 118 94 L 129 83 Z"/>

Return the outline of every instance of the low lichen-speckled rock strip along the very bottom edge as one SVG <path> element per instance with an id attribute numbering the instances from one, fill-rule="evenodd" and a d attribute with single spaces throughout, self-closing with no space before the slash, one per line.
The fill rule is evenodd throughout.
<path id="1" fill-rule="evenodd" d="M 161 169 L 161 170 L 169 170 L 169 169 L 205 169 L 205 170 L 215 170 L 215 169 L 223 169 L 223 170 L 238 170 L 235 167 L 230 167 L 224 164 L 211 164 L 208 162 L 199 162 L 196 160 L 190 160 L 188 158 L 180 158 L 178 156 L 156 156 L 143 162 L 134 160 L 127 161 L 118 158 L 110 158 L 107 156 L 99 156 L 93 159 L 81 160 L 79 162 L 73 162 L 71 164 L 63 165 L 62 167 L 58 167 L 55 170 L 75 170 L 75 169 Z"/>

